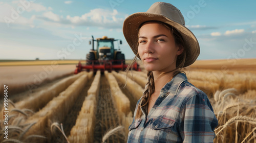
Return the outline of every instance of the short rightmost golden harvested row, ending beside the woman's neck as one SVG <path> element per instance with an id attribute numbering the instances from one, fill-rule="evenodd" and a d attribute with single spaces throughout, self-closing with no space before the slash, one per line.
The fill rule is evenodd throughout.
<path id="1" fill-rule="evenodd" d="M 126 76 L 126 73 L 124 71 L 119 71 L 120 74 L 123 74 Z M 133 75 L 131 74 L 131 72 L 129 72 L 127 74 L 127 76 L 134 80 L 135 82 L 137 82 L 142 88 L 145 87 L 146 83 L 147 83 L 147 78 L 145 78 L 144 76 L 141 76 L 141 74 L 138 74 L 139 72 L 135 72 L 133 71 Z M 140 72 L 141 73 L 141 72 Z M 144 74 L 143 74 L 144 75 Z"/>

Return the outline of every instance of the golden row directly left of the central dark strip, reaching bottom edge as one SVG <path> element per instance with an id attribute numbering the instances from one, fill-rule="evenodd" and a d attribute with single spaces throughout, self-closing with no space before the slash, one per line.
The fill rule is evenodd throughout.
<path id="1" fill-rule="evenodd" d="M 96 105 L 99 94 L 100 71 L 97 71 L 93 83 L 88 90 L 88 96 L 83 102 L 75 126 L 71 129 L 70 142 L 93 142 Z"/>

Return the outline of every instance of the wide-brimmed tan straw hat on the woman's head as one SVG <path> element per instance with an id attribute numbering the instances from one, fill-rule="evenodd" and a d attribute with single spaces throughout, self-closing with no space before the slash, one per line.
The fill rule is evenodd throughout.
<path id="1" fill-rule="evenodd" d="M 186 59 L 184 67 L 196 61 L 200 54 L 197 38 L 185 27 L 184 17 L 180 10 L 163 2 L 154 3 L 147 12 L 134 13 L 124 20 L 123 34 L 135 55 L 138 53 L 138 29 L 146 21 L 161 21 L 177 29 L 185 42 Z"/>

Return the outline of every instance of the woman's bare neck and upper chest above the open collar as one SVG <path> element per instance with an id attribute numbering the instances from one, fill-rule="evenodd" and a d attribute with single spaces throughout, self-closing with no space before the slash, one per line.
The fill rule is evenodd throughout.
<path id="1" fill-rule="evenodd" d="M 153 71 L 153 76 L 154 76 L 154 82 L 155 82 L 155 92 L 160 92 L 163 86 L 169 82 L 175 71 L 172 71 L 170 73 L 160 73 L 158 71 Z"/>

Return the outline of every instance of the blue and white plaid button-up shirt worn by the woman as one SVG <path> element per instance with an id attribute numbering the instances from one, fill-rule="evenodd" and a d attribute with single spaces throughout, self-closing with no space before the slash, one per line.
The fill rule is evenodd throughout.
<path id="1" fill-rule="evenodd" d="M 143 115 L 130 125 L 127 142 L 214 142 L 218 120 L 209 99 L 183 73 L 162 88 L 147 116 L 147 107 L 141 109 Z"/>

